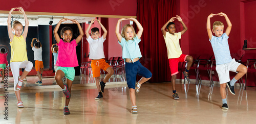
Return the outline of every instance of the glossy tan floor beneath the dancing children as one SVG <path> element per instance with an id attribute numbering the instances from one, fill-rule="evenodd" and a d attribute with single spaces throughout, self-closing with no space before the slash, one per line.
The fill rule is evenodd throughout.
<path id="1" fill-rule="evenodd" d="M 0 123 L 255 123 L 255 87 L 245 91 L 238 86 L 236 95 L 228 92 L 228 110 L 221 109 L 219 89 L 215 86 L 210 93 L 209 86 L 202 85 L 196 96 L 195 84 L 185 93 L 184 85 L 177 83 L 180 99 L 174 100 L 169 82 L 145 83 L 136 94 L 139 114 L 131 114 L 126 85 L 107 85 L 100 101 L 95 101 L 95 86 L 74 87 L 70 115 L 63 115 L 65 96 L 60 88 L 22 90 L 23 109 L 17 108 L 10 91 L 8 120 L 4 119 L 5 97 L 0 98 Z"/>

